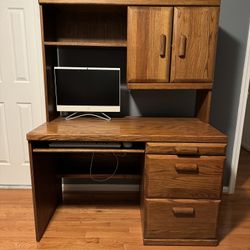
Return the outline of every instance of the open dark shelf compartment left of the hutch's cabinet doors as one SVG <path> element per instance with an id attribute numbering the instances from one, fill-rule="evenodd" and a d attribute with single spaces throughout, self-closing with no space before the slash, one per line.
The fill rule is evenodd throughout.
<path id="1" fill-rule="evenodd" d="M 44 44 L 126 47 L 125 6 L 44 5 Z"/>

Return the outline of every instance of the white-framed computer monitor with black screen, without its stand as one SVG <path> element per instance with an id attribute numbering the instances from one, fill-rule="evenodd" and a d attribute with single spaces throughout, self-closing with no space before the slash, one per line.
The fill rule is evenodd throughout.
<path id="1" fill-rule="evenodd" d="M 55 67 L 57 111 L 119 112 L 120 69 Z"/>

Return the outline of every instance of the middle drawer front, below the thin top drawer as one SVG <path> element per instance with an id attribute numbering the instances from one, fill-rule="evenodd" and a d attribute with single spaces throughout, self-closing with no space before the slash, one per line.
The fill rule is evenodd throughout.
<path id="1" fill-rule="evenodd" d="M 147 198 L 220 199 L 224 156 L 146 155 Z"/>

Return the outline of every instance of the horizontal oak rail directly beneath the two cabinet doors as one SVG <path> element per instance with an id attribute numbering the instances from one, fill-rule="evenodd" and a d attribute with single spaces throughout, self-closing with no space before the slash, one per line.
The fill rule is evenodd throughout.
<path id="1" fill-rule="evenodd" d="M 129 82 L 128 89 L 134 90 L 177 90 L 177 89 L 212 89 L 212 83 L 159 83 L 159 82 Z"/>

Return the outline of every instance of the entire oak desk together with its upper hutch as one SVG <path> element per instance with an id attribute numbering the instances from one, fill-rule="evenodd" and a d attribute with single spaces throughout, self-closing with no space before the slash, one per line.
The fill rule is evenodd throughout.
<path id="1" fill-rule="evenodd" d="M 209 125 L 220 0 L 39 3 L 47 122 L 27 134 L 37 241 L 63 201 L 62 178 L 87 178 L 94 152 L 97 177 L 107 174 L 107 155 L 126 153 L 114 178 L 140 184 L 144 244 L 216 245 L 227 141 Z M 76 62 L 77 54 L 85 56 Z M 56 111 L 55 66 L 119 67 L 131 91 L 194 90 L 195 115 L 66 121 Z M 56 141 L 133 146 L 51 148 Z"/>

